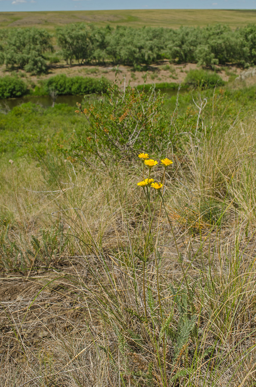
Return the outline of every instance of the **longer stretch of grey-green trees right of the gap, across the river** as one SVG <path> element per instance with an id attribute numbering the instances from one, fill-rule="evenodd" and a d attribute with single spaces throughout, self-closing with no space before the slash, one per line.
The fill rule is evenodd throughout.
<path id="1" fill-rule="evenodd" d="M 256 64 L 256 25 L 180 27 L 179 29 L 118 26 L 95 27 L 71 24 L 56 29 L 63 58 L 71 63 L 123 63 L 139 68 L 161 58 L 174 62 L 196 62 L 207 67 L 227 62 Z"/>

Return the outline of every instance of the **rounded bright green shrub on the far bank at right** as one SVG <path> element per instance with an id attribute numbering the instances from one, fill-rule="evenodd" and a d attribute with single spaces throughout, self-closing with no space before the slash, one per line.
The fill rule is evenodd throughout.
<path id="1" fill-rule="evenodd" d="M 185 83 L 194 87 L 203 87 L 205 89 L 210 87 L 223 86 L 224 80 L 218 74 L 207 70 L 190 70 L 188 72 Z"/>

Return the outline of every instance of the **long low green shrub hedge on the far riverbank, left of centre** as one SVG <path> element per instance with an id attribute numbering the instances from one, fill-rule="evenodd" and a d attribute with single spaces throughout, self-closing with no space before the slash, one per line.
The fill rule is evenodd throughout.
<path id="1" fill-rule="evenodd" d="M 58 95 L 79 95 L 100 93 L 106 90 L 108 80 L 90 77 L 67 77 L 65 74 L 56 75 L 41 83 L 41 87 L 35 88 L 35 94 L 47 95 L 54 90 Z"/>

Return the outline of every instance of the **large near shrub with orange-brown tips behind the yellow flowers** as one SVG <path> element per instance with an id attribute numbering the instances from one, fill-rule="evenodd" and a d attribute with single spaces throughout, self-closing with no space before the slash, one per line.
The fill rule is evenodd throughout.
<path id="1" fill-rule="evenodd" d="M 92 153 L 107 163 L 109 154 L 113 161 L 144 148 L 159 149 L 166 129 L 162 105 L 163 96 L 153 88 L 138 92 L 128 85 L 124 92 L 112 84 L 99 103 L 84 110 L 78 105 L 87 118 L 86 129 L 63 149 L 65 156 L 83 163 L 85 154 Z"/>

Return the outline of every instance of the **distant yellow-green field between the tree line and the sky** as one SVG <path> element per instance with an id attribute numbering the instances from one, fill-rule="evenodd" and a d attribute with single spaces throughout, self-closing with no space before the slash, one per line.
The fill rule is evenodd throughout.
<path id="1" fill-rule="evenodd" d="M 45 27 L 88 22 L 98 26 L 171 27 L 228 24 L 232 28 L 256 22 L 256 10 L 146 9 L 105 11 L 2 12 L 0 27 Z"/>

